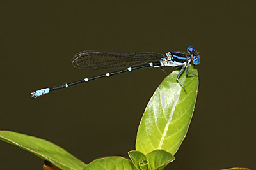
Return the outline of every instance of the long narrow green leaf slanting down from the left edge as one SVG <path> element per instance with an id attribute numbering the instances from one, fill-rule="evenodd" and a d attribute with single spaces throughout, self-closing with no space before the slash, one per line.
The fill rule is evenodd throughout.
<path id="1" fill-rule="evenodd" d="M 44 139 L 11 131 L 0 131 L 0 139 L 27 150 L 60 169 L 83 169 L 86 166 L 60 146 Z"/>

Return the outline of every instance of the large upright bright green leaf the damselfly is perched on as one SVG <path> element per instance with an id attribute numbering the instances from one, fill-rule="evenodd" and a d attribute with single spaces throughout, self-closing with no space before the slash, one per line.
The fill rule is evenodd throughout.
<path id="1" fill-rule="evenodd" d="M 163 149 L 174 155 L 186 136 L 195 107 L 198 76 L 182 74 L 185 94 L 176 80 L 179 72 L 173 71 L 159 85 L 141 118 L 136 150 L 144 154 Z M 194 66 L 189 67 L 189 73 L 198 75 Z"/>

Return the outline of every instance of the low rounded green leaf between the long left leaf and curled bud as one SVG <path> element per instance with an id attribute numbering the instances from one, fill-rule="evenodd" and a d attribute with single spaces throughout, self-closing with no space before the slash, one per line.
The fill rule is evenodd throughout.
<path id="1" fill-rule="evenodd" d="M 136 167 L 132 164 L 132 162 L 123 157 L 105 157 L 101 159 L 93 160 L 90 164 L 88 164 L 84 170 L 117 170 L 117 169 L 125 169 L 125 170 L 134 170 Z"/>

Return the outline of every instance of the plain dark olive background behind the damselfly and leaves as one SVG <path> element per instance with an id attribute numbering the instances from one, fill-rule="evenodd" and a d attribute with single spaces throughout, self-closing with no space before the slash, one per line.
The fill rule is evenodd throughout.
<path id="1" fill-rule="evenodd" d="M 106 73 L 74 69 L 83 50 L 200 52 L 188 134 L 166 169 L 255 166 L 255 1 L 1 3 L 0 129 L 47 139 L 86 163 L 127 156 L 166 76 L 141 69 L 31 99 L 31 91 Z M 170 73 L 173 68 L 166 68 Z M 0 142 L 1 169 L 43 160 Z"/>

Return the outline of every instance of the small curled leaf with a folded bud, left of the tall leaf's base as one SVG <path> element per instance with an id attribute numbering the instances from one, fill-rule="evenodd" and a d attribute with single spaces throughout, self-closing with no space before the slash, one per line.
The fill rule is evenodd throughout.
<path id="1" fill-rule="evenodd" d="M 128 152 L 129 157 L 132 160 L 132 163 L 136 167 L 136 169 L 147 169 L 148 168 L 148 161 L 147 157 L 138 150 L 131 150 Z"/>

